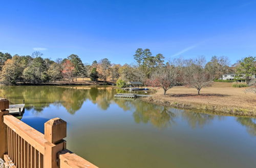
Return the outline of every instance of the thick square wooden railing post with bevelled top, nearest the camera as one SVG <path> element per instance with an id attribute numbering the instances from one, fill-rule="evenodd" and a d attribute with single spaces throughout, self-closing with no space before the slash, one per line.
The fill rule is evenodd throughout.
<path id="1" fill-rule="evenodd" d="M 63 140 L 67 136 L 67 122 L 59 118 L 51 119 L 45 123 L 45 155 L 44 167 L 55 168 L 57 164 L 57 153 L 66 148 Z"/>

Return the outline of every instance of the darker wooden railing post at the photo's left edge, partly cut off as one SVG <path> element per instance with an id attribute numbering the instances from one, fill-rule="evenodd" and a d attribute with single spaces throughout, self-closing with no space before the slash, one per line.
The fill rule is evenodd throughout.
<path id="1" fill-rule="evenodd" d="M 0 98 L 0 158 L 4 159 L 4 154 L 8 152 L 7 126 L 4 123 L 4 115 L 9 114 L 9 100 Z"/>

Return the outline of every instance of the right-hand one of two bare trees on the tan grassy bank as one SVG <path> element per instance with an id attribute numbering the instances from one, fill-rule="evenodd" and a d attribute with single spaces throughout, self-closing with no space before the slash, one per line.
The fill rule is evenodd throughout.
<path id="1" fill-rule="evenodd" d="M 183 82 L 186 86 L 197 89 L 198 95 L 202 88 L 212 85 L 212 79 L 212 75 L 205 69 L 204 57 L 186 61 Z"/>

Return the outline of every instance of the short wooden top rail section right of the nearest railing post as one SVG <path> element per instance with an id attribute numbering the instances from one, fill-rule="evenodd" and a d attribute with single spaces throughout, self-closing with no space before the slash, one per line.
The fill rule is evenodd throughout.
<path id="1" fill-rule="evenodd" d="M 96 165 L 89 162 L 86 159 L 83 159 L 80 156 L 70 152 L 65 149 L 58 152 L 59 166 L 61 168 L 71 168 L 71 167 L 88 167 L 88 168 L 97 168 Z"/>

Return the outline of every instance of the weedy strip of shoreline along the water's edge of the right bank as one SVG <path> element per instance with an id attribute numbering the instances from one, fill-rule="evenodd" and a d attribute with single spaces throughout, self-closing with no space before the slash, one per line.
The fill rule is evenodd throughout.
<path id="1" fill-rule="evenodd" d="M 215 105 L 215 104 L 206 104 L 206 103 L 193 103 L 193 102 L 183 102 L 183 101 L 170 101 L 165 100 L 156 95 L 152 97 L 140 98 L 142 101 L 162 105 L 168 107 L 174 107 L 179 109 L 188 109 L 188 110 L 205 110 L 201 111 L 202 113 L 210 113 L 215 115 L 230 115 L 237 117 L 252 117 L 256 118 L 256 109 L 248 109 L 246 107 L 235 107 L 235 106 L 226 106 L 226 105 Z"/>

